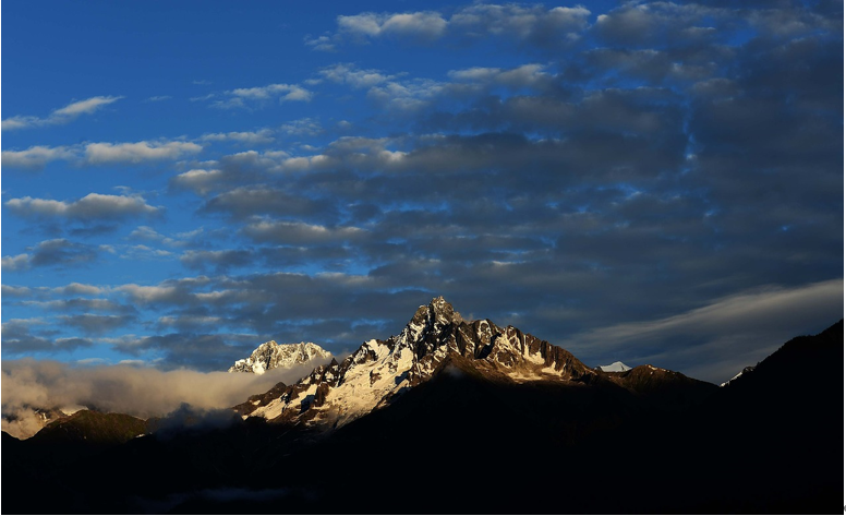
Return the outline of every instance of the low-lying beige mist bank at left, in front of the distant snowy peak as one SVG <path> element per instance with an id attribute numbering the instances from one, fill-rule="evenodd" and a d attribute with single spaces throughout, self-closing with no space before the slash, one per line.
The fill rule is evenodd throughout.
<path id="1" fill-rule="evenodd" d="M 232 407 L 279 382 L 290 384 L 326 359 L 265 374 L 191 370 L 160 371 L 132 365 L 74 367 L 56 361 L 3 360 L 2 430 L 19 439 L 44 427 L 36 409 L 85 406 L 147 419 L 188 404 L 203 410 Z"/>

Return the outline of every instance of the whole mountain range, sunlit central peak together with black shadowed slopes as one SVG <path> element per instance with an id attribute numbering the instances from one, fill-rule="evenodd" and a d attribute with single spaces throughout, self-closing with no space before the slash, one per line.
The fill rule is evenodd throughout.
<path id="1" fill-rule="evenodd" d="M 829 514 L 843 373 L 820 364 L 843 347 L 841 322 L 718 388 L 649 364 L 589 370 L 436 298 L 399 335 L 237 407 L 276 418 L 99 447 L 4 433 L 3 512 Z"/>

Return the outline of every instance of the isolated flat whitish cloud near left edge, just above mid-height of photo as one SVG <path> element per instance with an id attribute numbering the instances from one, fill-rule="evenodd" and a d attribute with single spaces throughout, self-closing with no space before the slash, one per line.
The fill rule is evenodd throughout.
<path id="1" fill-rule="evenodd" d="M 137 195 L 108 195 L 89 193 L 76 201 L 53 201 L 29 196 L 11 199 L 4 203 L 15 215 L 23 217 L 58 217 L 74 220 L 93 220 L 150 216 L 160 207 L 150 206 Z"/>

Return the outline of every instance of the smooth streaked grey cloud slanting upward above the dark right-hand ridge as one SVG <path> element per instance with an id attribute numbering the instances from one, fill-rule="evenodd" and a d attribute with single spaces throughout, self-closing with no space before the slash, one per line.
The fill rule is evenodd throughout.
<path id="1" fill-rule="evenodd" d="M 740 292 L 664 319 L 575 335 L 563 345 L 591 357 L 664 363 L 722 383 L 790 338 L 815 334 L 843 316 L 843 279 Z"/>

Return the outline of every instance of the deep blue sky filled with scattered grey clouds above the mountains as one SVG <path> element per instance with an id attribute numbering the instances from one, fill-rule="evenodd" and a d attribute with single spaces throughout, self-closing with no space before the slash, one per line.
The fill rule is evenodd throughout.
<path id="1" fill-rule="evenodd" d="M 843 3 L 737 5 L 7 1 L 2 359 L 342 355 L 444 296 L 728 380 L 844 309 Z"/>

